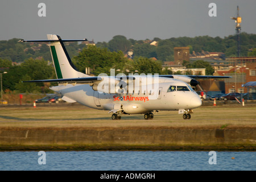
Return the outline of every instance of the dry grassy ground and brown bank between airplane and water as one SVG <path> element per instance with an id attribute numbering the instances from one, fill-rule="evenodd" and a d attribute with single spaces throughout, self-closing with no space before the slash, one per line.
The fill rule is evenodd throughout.
<path id="1" fill-rule="evenodd" d="M 5 150 L 256 150 L 256 104 L 205 101 L 191 119 L 159 111 L 112 120 L 79 104 L 0 107 Z"/>

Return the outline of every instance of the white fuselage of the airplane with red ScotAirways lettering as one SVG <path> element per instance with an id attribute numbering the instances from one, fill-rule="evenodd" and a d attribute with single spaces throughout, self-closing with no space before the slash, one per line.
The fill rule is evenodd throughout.
<path id="1" fill-rule="evenodd" d="M 170 87 L 175 88 L 170 90 Z M 179 87 L 187 90 L 179 90 Z M 158 88 L 130 93 L 101 93 L 89 84 L 67 84 L 51 88 L 62 96 L 82 105 L 100 110 L 123 109 L 126 114 L 149 113 L 153 110 L 194 109 L 201 106 L 197 93 L 185 82 L 159 78 Z M 152 92 L 151 92 L 152 91 Z"/>

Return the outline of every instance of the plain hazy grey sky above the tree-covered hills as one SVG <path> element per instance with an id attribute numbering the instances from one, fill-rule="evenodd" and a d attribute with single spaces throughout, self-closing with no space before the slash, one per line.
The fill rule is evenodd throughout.
<path id="1" fill-rule="evenodd" d="M 42 6 L 46 5 L 42 11 Z M 210 3 L 216 4 L 216 16 Z M 0 40 L 63 39 L 109 42 L 127 39 L 169 39 L 182 36 L 234 35 L 237 6 L 242 32 L 256 34 L 255 0 L 1 0 Z M 46 16 L 39 16 L 45 12 Z"/>

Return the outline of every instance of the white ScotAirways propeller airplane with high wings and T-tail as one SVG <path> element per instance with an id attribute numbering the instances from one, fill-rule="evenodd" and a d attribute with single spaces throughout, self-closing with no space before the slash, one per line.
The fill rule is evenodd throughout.
<path id="1" fill-rule="evenodd" d="M 195 78 L 230 78 L 228 76 L 185 75 L 115 75 L 89 76 L 77 71 L 64 40 L 47 34 L 47 40 L 20 40 L 20 42 L 48 42 L 57 79 L 23 82 L 57 82 L 51 90 L 61 94 L 62 100 L 109 110 L 112 119 L 121 119 L 123 114 L 144 114 L 144 119 L 154 118 L 154 112 L 177 110 L 183 119 L 191 119 L 193 109 L 200 107 L 201 98 L 192 86 L 199 84 Z"/>

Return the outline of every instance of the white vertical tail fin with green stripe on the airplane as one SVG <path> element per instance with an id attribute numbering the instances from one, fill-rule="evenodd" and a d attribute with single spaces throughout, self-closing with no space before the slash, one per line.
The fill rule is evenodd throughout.
<path id="1" fill-rule="evenodd" d="M 49 47 L 51 49 L 52 61 L 58 79 L 88 77 L 88 75 L 77 71 L 75 65 L 72 63 L 68 55 L 63 40 L 61 40 L 60 36 L 48 34 L 47 38 L 50 41 Z"/>

